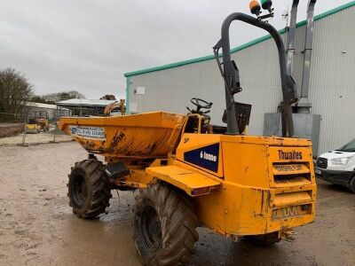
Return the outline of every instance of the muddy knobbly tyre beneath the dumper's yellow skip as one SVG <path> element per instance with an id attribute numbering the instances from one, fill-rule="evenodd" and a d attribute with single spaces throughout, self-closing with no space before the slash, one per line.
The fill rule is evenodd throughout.
<path id="1" fill-rule="evenodd" d="M 67 188 L 69 205 L 81 218 L 94 218 L 105 213 L 112 198 L 103 164 L 96 159 L 75 162 Z"/>

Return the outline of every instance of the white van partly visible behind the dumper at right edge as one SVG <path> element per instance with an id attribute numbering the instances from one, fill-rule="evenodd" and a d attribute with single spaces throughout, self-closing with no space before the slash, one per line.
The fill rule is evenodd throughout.
<path id="1" fill-rule="evenodd" d="M 355 193 L 355 138 L 343 147 L 319 155 L 316 176 L 331 184 L 341 184 Z"/>

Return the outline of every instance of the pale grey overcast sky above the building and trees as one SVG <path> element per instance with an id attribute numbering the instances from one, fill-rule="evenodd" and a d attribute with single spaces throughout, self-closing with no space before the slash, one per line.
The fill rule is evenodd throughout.
<path id="1" fill-rule="evenodd" d="M 274 27 L 285 27 L 291 2 L 273 1 Z M 320 0 L 316 14 L 348 2 Z M 248 12 L 248 0 L 0 0 L 0 68 L 25 74 L 40 95 L 124 98 L 123 73 L 211 54 L 231 12 Z M 231 35 L 233 47 L 265 32 L 235 23 Z"/>

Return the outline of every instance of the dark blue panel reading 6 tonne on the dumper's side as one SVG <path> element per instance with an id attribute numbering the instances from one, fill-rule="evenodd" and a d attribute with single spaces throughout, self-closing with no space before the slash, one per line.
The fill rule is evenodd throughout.
<path id="1" fill-rule="evenodd" d="M 184 160 L 201 168 L 218 172 L 219 144 L 208 145 L 184 153 Z"/>

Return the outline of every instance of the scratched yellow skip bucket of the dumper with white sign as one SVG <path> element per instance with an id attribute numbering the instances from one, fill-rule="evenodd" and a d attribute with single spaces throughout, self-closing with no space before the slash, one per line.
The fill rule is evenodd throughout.
<path id="1" fill-rule="evenodd" d="M 139 113 L 110 117 L 62 117 L 59 129 L 90 153 L 117 158 L 166 157 L 175 145 L 185 115 Z"/>

